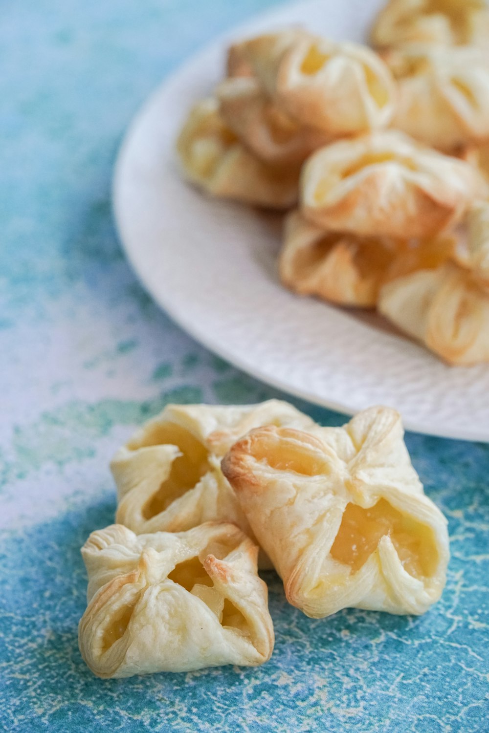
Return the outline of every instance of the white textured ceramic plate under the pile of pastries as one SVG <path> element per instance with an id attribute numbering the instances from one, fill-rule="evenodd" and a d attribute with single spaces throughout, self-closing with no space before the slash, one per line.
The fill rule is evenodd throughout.
<path id="1" fill-rule="evenodd" d="M 279 284 L 280 220 L 185 185 L 174 139 L 188 108 L 221 78 L 229 40 L 287 23 L 363 40 L 382 0 L 312 0 L 261 15 L 167 79 L 131 125 L 114 206 L 144 287 L 185 331 L 261 380 L 354 413 L 391 405 L 406 427 L 489 441 L 489 368 L 446 367 L 375 315 L 356 315 Z"/>

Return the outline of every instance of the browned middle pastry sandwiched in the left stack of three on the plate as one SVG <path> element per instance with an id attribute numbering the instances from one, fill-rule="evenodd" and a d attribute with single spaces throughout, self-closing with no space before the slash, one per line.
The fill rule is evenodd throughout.
<path id="1" fill-rule="evenodd" d="M 262 161 L 296 166 L 328 141 L 323 133 L 295 122 L 271 102 L 255 78 L 226 79 L 216 96 L 224 122 Z"/>

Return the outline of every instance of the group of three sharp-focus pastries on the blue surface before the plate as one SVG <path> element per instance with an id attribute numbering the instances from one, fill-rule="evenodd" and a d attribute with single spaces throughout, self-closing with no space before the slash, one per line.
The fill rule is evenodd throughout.
<path id="1" fill-rule="evenodd" d="M 423 614 L 441 596 L 446 520 L 400 416 L 320 427 L 287 402 L 168 405 L 111 462 L 117 524 L 82 548 L 78 629 L 99 677 L 256 666 L 273 652 L 275 568 L 307 616 Z"/>

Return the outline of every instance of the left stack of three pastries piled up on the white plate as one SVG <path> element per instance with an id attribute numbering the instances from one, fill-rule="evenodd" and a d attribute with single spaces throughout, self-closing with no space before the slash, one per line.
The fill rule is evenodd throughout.
<path id="1" fill-rule="evenodd" d="M 227 78 L 177 140 L 184 176 L 207 194 L 293 207 L 301 164 L 339 136 L 394 115 L 394 79 L 375 51 L 285 29 L 229 48 Z"/>

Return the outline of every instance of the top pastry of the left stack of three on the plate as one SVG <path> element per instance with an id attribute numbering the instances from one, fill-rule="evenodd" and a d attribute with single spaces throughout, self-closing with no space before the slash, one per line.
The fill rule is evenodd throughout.
<path id="1" fill-rule="evenodd" d="M 338 137 L 386 127 L 394 114 L 391 73 L 369 48 L 297 34 L 259 37 L 247 54 L 268 95 L 290 117 Z"/>

